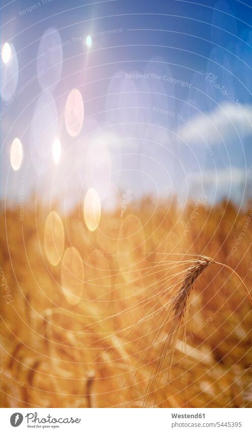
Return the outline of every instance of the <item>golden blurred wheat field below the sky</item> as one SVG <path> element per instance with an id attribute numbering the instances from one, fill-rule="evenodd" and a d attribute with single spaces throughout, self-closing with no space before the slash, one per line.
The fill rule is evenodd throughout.
<path id="1" fill-rule="evenodd" d="M 2 407 L 252 407 L 251 303 L 230 269 L 204 270 L 169 338 L 196 257 L 252 283 L 251 203 L 194 210 L 146 197 L 90 231 L 80 209 L 2 203 Z"/>

